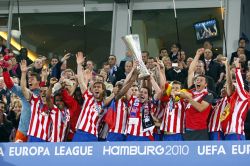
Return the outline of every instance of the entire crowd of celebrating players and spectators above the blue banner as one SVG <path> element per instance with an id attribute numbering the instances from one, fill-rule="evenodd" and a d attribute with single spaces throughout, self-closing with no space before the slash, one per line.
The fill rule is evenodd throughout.
<path id="1" fill-rule="evenodd" d="M 32 62 L 0 43 L 0 142 L 250 139 L 247 42 L 230 59 L 210 41 L 193 57 L 178 43 L 142 51 L 147 77 L 130 51 L 98 70 L 79 51 L 75 72 L 70 53 Z"/>

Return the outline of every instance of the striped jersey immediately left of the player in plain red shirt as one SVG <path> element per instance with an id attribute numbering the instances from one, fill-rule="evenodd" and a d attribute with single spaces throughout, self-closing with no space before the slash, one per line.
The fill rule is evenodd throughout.
<path id="1" fill-rule="evenodd" d="M 182 100 L 174 103 L 170 100 L 165 107 L 160 129 L 168 133 L 184 133 L 184 120 L 185 103 Z"/>

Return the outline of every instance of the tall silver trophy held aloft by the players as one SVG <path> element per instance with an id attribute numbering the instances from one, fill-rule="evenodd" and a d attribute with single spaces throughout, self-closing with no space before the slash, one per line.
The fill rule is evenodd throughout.
<path id="1" fill-rule="evenodd" d="M 150 73 L 146 65 L 142 61 L 139 35 L 137 34 L 126 35 L 122 37 L 122 40 L 124 41 L 128 49 L 134 55 L 134 59 L 139 62 L 139 66 L 138 66 L 138 69 L 140 71 L 139 78 L 148 77 Z"/>

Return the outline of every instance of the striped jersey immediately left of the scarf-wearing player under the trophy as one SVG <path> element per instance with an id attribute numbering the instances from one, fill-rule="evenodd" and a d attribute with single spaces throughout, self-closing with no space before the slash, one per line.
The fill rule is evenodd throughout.
<path id="1" fill-rule="evenodd" d="M 116 123 L 113 129 L 110 129 L 109 132 L 125 134 L 126 124 L 127 124 L 127 105 L 124 101 L 124 98 L 116 101 Z"/>

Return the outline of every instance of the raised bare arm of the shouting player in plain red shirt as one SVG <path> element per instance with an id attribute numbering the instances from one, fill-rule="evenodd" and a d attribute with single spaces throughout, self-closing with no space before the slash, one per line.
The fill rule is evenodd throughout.
<path id="1" fill-rule="evenodd" d="M 196 51 L 194 60 L 191 62 L 189 69 L 188 69 L 188 80 L 187 80 L 187 84 L 188 84 L 188 88 L 191 87 L 193 85 L 193 78 L 194 78 L 194 72 L 195 72 L 195 68 L 196 65 L 200 59 L 201 54 L 204 53 L 204 48 L 200 48 Z"/>

